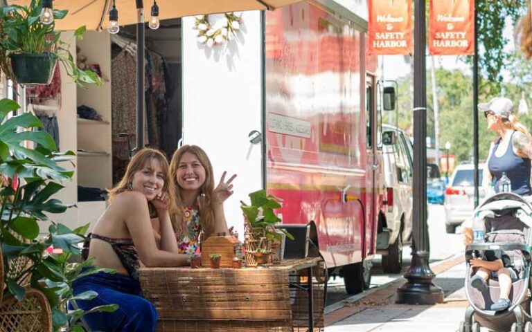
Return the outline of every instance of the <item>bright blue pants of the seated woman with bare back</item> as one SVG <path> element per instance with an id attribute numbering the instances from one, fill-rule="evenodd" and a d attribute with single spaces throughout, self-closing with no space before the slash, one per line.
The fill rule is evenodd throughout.
<path id="1" fill-rule="evenodd" d="M 73 283 L 73 293 L 95 291 L 98 296 L 91 300 L 76 300 L 78 307 L 88 311 L 95 306 L 118 304 L 113 313 L 89 313 L 85 321 L 93 331 L 150 332 L 157 326 L 157 311 L 153 304 L 142 297 L 138 280 L 127 275 L 96 273 L 82 277 Z"/>

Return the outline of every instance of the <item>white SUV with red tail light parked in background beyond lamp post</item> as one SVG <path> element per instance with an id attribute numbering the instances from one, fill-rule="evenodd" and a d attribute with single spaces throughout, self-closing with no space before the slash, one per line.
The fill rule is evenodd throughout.
<path id="1" fill-rule="evenodd" d="M 473 181 L 473 164 L 458 165 L 454 169 L 449 186 L 445 190 L 445 230 L 454 233 L 456 226 L 472 216 L 475 208 L 475 186 Z M 482 169 L 479 164 L 479 200 L 484 199 L 481 187 Z"/>

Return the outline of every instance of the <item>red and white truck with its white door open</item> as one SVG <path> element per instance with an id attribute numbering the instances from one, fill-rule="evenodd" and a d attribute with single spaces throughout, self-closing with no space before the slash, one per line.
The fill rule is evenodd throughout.
<path id="1" fill-rule="evenodd" d="M 184 143 L 204 147 L 218 174 L 238 174 L 225 206 L 240 234 L 238 202 L 263 187 L 283 199 L 284 224 L 314 222 L 329 272 L 360 293 L 387 208 L 384 89 L 366 55 L 367 21 L 316 3 L 242 19 L 240 44 L 225 51 L 197 48 L 183 20 Z"/>

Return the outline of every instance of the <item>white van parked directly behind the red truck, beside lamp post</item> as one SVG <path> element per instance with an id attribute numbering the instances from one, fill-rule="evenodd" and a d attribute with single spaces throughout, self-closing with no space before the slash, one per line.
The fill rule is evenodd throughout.
<path id="1" fill-rule="evenodd" d="M 382 125 L 384 181 L 387 210 L 379 220 L 377 249 L 382 254 L 382 270 L 399 273 L 402 246 L 411 243 L 412 234 L 412 150 L 404 131 Z"/>

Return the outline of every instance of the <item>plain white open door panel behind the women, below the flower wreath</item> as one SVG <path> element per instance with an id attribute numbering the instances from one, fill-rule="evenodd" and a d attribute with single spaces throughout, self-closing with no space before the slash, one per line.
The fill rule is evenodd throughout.
<path id="1" fill-rule="evenodd" d="M 240 201 L 262 189 L 260 145 L 251 147 L 248 140 L 249 131 L 261 130 L 260 12 L 244 12 L 242 19 L 237 40 L 209 48 L 197 43 L 194 18 L 184 17 L 181 55 L 184 144 L 205 149 L 216 183 L 224 170 L 238 174 L 225 212 L 240 239 Z"/>

